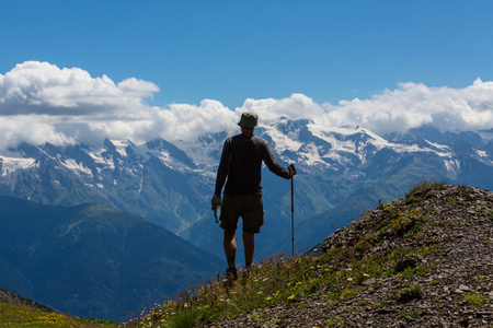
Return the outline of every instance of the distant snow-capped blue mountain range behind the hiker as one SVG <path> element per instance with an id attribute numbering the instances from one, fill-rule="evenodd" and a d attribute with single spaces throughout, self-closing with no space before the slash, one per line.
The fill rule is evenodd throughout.
<path id="1" fill-rule="evenodd" d="M 493 186 L 492 131 L 440 133 L 424 127 L 380 137 L 363 127 L 334 128 L 280 117 L 255 134 L 270 142 L 283 165 L 297 165 L 296 220 L 306 236 L 300 247 L 313 246 L 320 241 L 310 242 L 310 236 L 328 235 L 357 219 L 365 207 L 402 196 L 424 178 L 484 189 Z M 217 242 L 221 232 L 214 224 L 209 199 L 226 137 L 142 144 L 130 140 L 68 147 L 24 143 L 0 153 L 0 195 L 47 204 L 113 206 L 221 256 Z M 265 171 L 263 187 L 266 222 L 259 249 L 266 255 L 288 248 L 290 185 Z M 367 195 L 366 202 L 362 195 Z M 311 218 L 337 207 L 354 210 L 339 211 L 339 216 L 328 218 L 310 232 Z"/>

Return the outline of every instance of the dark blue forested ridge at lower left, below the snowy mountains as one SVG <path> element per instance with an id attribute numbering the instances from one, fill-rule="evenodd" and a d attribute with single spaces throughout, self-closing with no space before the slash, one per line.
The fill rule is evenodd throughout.
<path id="1" fill-rule="evenodd" d="M 59 312 L 124 319 L 222 269 L 221 260 L 134 214 L 0 197 L 1 286 Z"/>

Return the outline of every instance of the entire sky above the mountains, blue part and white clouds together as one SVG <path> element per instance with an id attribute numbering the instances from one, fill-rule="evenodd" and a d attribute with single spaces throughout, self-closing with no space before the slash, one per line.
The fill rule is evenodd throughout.
<path id="1" fill-rule="evenodd" d="M 194 140 L 241 113 L 493 129 L 493 1 L 0 0 L 0 150 Z"/>

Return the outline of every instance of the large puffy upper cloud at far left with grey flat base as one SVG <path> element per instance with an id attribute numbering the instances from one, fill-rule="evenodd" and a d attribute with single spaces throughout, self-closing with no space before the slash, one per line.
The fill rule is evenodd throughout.
<path id="1" fill-rule="evenodd" d="M 26 61 L 0 74 L 0 115 L 99 115 L 141 107 L 142 98 L 159 87 L 137 79 L 118 85 L 79 68 L 59 69 L 48 62 Z"/>

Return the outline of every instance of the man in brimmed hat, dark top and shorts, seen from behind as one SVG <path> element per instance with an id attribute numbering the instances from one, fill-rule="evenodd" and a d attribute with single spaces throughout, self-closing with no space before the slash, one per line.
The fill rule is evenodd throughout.
<path id="1" fill-rule="evenodd" d="M 234 238 L 238 220 L 243 220 L 243 247 L 245 267 L 253 262 L 255 253 L 254 236 L 260 233 L 264 224 L 264 209 L 262 201 L 262 161 L 274 174 L 286 179 L 296 175 L 294 165 L 284 168 L 274 159 L 268 143 L 256 136 L 253 130 L 257 128 L 257 116 L 253 113 L 243 113 L 238 122 L 241 133 L 227 138 L 222 148 L 221 161 L 217 169 L 216 190 L 211 200 L 213 210 L 221 208 L 220 227 L 223 230 L 223 247 L 228 261 L 226 274 L 237 278 L 236 254 L 237 241 Z M 226 183 L 226 186 L 225 186 Z M 225 186 L 221 202 L 221 190 Z"/>

